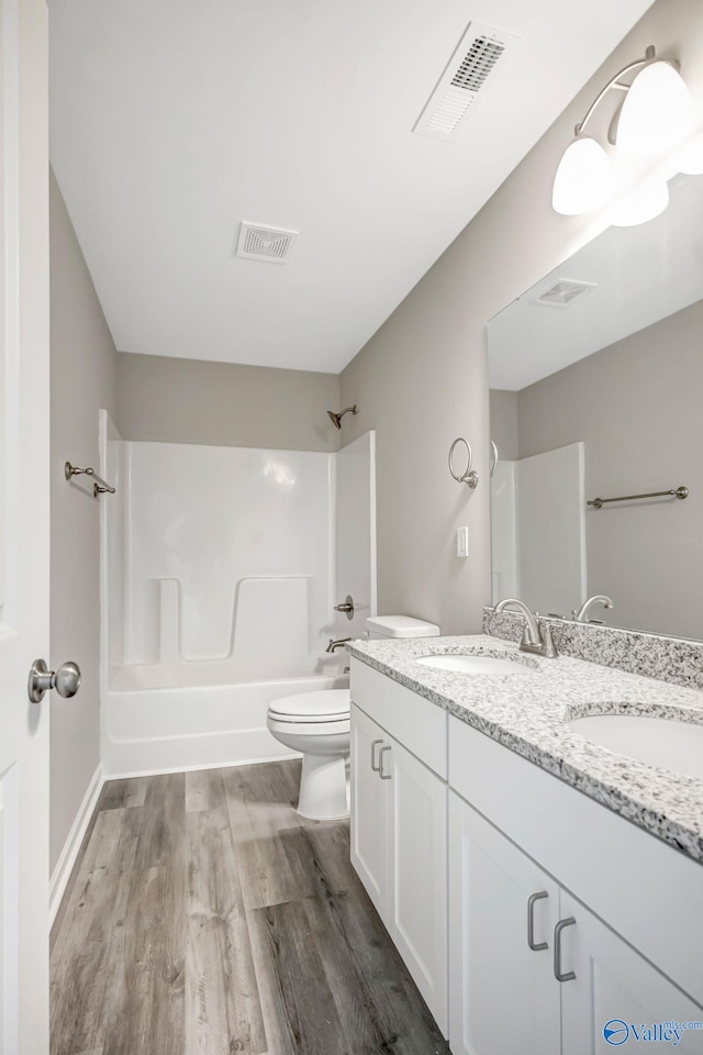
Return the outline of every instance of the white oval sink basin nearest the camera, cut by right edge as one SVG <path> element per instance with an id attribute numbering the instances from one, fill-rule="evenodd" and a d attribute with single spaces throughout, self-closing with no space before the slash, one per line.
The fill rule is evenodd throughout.
<path id="1" fill-rule="evenodd" d="M 703 780 L 703 725 L 644 714 L 589 714 L 567 724 L 618 755 Z"/>

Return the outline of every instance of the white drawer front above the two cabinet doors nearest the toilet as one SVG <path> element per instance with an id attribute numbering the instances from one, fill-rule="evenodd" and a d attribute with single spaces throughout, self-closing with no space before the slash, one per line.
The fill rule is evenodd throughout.
<path id="1" fill-rule="evenodd" d="M 429 769 L 447 779 L 446 711 L 354 658 L 352 699 Z"/>

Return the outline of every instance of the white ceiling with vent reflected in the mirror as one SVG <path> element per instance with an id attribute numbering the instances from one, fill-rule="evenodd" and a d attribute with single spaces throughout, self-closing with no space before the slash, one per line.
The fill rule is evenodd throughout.
<path id="1" fill-rule="evenodd" d="M 609 227 L 489 323 L 489 384 L 520 391 L 703 299 L 703 176 L 677 176 L 669 208 Z M 566 308 L 533 301 L 557 281 L 595 289 Z"/>

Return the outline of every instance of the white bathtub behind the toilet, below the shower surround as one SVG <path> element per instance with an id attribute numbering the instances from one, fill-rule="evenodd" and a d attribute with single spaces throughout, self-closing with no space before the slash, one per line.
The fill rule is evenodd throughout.
<path id="1" fill-rule="evenodd" d="M 330 675 L 236 685 L 144 688 L 144 668 L 123 667 L 103 699 L 105 775 L 134 776 L 291 758 L 266 728 L 271 700 L 348 687 Z"/>

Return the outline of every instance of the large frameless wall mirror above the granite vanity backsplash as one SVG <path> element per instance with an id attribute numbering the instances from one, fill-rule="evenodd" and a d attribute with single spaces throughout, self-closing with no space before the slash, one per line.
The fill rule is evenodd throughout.
<path id="1" fill-rule="evenodd" d="M 669 189 L 489 323 L 492 592 L 703 638 L 703 177 Z"/>

